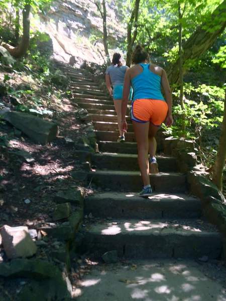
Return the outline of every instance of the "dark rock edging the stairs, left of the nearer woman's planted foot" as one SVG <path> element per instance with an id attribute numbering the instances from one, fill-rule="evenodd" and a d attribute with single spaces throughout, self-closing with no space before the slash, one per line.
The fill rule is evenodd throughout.
<path id="1" fill-rule="evenodd" d="M 83 206 L 84 189 L 81 187 L 77 187 L 76 189 L 68 189 L 66 191 L 60 191 L 56 194 L 54 201 L 56 203 L 69 202 L 73 205 Z"/>

